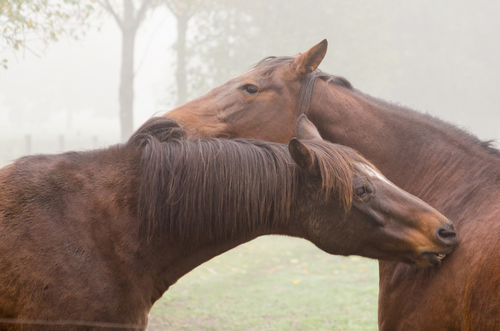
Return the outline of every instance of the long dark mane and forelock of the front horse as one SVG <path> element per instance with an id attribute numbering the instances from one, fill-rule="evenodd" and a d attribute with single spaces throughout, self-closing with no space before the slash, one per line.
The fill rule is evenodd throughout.
<path id="1" fill-rule="evenodd" d="M 348 209 L 351 170 L 361 157 L 340 145 L 306 144 L 316 154 L 325 196 L 337 194 Z M 303 178 L 286 145 L 188 139 L 177 122 L 165 117 L 149 119 L 127 145 L 142 149 L 138 212 L 148 238 L 217 240 L 252 233 L 260 225 L 272 227 L 289 216 Z"/>

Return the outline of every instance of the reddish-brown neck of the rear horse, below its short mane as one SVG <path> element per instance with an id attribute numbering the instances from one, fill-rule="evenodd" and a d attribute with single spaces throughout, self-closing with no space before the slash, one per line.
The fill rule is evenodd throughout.
<path id="1" fill-rule="evenodd" d="M 454 214 L 482 203 L 477 195 L 488 193 L 478 187 L 496 183 L 490 191 L 498 193 L 500 158 L 468 134 L 428 115 L 317 85 L 307 116 L 321 136 L 356 149 L 402 189 Z"/>

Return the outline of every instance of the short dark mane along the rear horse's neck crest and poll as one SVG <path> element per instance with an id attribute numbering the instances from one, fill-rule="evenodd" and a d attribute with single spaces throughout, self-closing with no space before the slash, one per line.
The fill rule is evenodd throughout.
<path id="1" fill-rule="evenodd" d="M 270 77 L 274 73 L 274 70 L 277 67 L 284 65 L 286 63 L 290 63 L 294 59 L 295 57 L 291 56 L 281 56 L 281 57 L 270 56 L 260 60 L 252 68 L 262 70 L 264 76 Z M 461 141 L 468 142 L 471 145 L 478 146 L 488 154 L 500 157 L 500 149 L 495 147 L 496 141 L 494 139 L 486 141 L 480 140 L 476 135 L 469 132 L 465 128 L 443 121 L 436 116 L 432 116 L 428 113 L 421 113 L 417 110 L 414 110 L 406 106 L 402 106 L 398 103 L 393 103 L 391 101 L 386 101 L 380 98 L 370 96 L 369 94 L 354 89 L 352 84 L 346 78 L 328 74 L 319 69 L 314 70 L 312 73 L 307 75 L 302 81 L 302 85 L 300 87 L 300 93 L 298 96 L 298 107 L 297 107 L 299 115 L 300 114 L 307 115 L 307 111 L 309 110 L 309 105 L 314 92 L 314 87 L 318 79 L 324 81 L 326 84 L 332 84 L 350 90 L 357 96 L 360 96 L 368 101 L 371 101 L 381 107 L 399 112 L 407 119 L 425 120 L 428 123 L 432 124 L 433 126 L 441 128 L 448 133 L 451 133 L 454 137 L 458 138 Z"/>

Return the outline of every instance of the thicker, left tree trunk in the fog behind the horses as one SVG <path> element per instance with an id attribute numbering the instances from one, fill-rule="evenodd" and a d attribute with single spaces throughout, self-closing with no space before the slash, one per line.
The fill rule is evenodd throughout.
<path id="1" fill-rule="evenodd" d="M 123 43 L 121 49 L 121 81 L 120 81 L 120 125 L 121 142 L 125 142 L 132 134 L 133 109 L 133 44 L 135 29 L 122 29 Z"/>

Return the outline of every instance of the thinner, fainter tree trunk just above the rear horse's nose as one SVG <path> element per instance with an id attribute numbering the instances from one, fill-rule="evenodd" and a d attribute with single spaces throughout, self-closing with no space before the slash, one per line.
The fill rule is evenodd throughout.
<path id="1" fill-rule="evenodd" d="M 189 16 L 177 16 L 177 106 L 187 101 L 186 30 Z"/>

